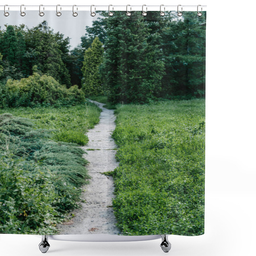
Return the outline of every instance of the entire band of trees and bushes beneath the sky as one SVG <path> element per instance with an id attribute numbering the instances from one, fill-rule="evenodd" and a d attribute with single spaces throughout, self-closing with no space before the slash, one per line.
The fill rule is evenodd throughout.
<path id="1" fill-rule="evenodd" d="M 72 50 L 69 38 L 46 21 L 34 28 L 6 25 L 0 30 L 0 107 L 73 104 L 84 95 L 106 95 L 112 103 L 204 97 L 205 17 L 115 12 L 109 18 L 101 12 Z"/>

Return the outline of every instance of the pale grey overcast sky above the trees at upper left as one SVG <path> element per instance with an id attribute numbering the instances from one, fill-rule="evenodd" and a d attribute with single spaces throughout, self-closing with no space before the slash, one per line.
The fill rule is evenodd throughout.
<path id="1" fill-rule="evenodd" d="M 48 26 L 51 27 L 54 32 L 60 32 L 65 37 L 70 38 L 70 50 L 79 44 L 81 36 L 85 34 L 85 27 L 92 26 L 92 20 L 97 19 L 98 15 L 92 17 L 90 12 L 83 11 L 78 12 L 76 17 L 72 16 L 72 12 L 63 11 L 61 16 L 56 16 L 56 11 L 46 11 L 44 16 L 40 17 L 38 11 L 27 11 L 24 17 L 20 16 L 19 11 L 9 12 L 8 17 L 4 16 L 4 12 L 0 14 L 0 26 L 1 29 L 5 29 L 4 24 L 20 25 L 25 24 L 28 28 L 37 26 L 42 21 L 46 20 Z"/>

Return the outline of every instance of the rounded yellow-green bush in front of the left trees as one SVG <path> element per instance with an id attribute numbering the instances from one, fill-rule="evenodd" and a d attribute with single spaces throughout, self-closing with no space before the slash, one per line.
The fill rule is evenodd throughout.
<path id="1" fill-rule="evenodd" d="M 77 85 L 67 89 L 53 77 L 36 72 L 28 78 L 9 79 L 1 87 L 0 106 L 33 107 L 38 104 L 62 106 L 75 105 L 85 100 L 84 93 Z"/>

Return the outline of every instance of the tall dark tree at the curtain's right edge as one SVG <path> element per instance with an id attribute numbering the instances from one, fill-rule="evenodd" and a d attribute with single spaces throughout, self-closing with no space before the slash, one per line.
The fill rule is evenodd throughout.
<path id="1" fill-rule="evenodd" d="M 205 13 L 186 12 L 163 27 L 166 74 L 162 96 L 202 97 L 205 85 Z"/>

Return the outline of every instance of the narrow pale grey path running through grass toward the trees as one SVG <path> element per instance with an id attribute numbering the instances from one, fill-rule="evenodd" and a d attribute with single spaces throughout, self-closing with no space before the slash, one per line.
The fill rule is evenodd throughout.
<path id="1" fill-rule="evenodd" d="M 106 109 L 104 104 L 97 104 L 102 112 L 100 122 L 87 133 L 89 142 L 82 148 L 84 157 L 90 162 L 87 166 L 91 176 L 90 183 L 84 186 L 81 209 L 72 212 L 71 220 L 58 225 L 59 234 L 119 234 L 112 206 L 114 184 L 110 176 L 103 172 L 113 171 L 116 162 L 116 144 L 111 134 L 115 129 L 114 110 Z"/>

